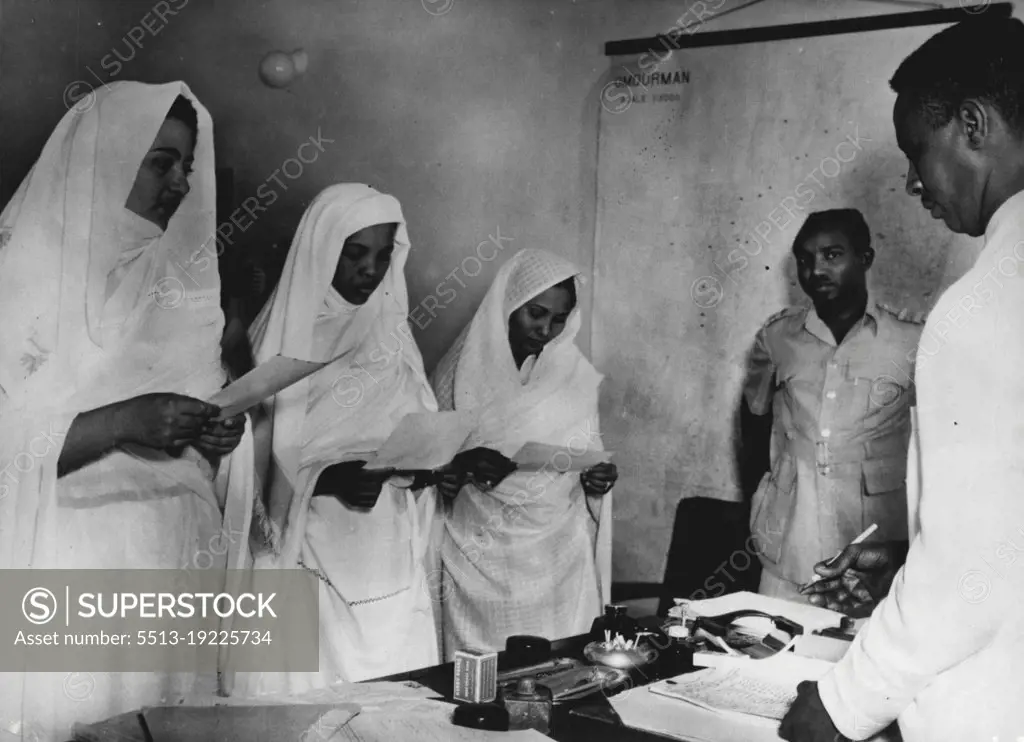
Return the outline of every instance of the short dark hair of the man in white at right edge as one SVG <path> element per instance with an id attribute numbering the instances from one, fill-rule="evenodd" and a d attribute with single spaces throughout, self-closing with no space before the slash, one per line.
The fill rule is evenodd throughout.
<path id="1" fill-rule="evenodd" d="M 893 91 L 939 129 L 968 98 L 995 107 L 1017 134 L 1024 133 L 1024 23 L 978 17 L 940 31 L 906 57 Z"/>

